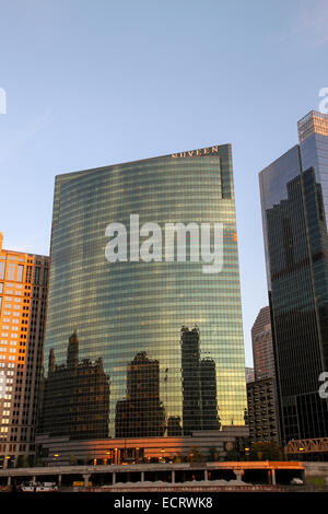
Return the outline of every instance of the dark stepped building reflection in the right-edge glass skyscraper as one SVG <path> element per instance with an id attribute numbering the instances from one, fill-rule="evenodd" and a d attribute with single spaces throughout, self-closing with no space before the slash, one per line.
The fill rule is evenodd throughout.
<path id="1" fill-rule="evenodd" d="M 317 254 L 311 248 L 311 238 L 317 240 L 315 245 L 318 248 L 327 235 L 321 232 L 323 220 L 315 212 L 320 185 L 315 183 L 314 170 L 302 172 L 302 176 L 290 180 L 286 190 L 286 199 L 266 210 L 271 258 L 270 303 L 274 317 L 281 437 L 284 443 L 291 439 L 325 436 L 328 429 L 327 405 L 317 394 L 318 376 L 324 365 L 319 344 L 328 300 L 327 290 L 325 292 L 327 264 L 323 248 Z M 313 231 L 309 241 L 307 215 Z M 280 238 L 280 244 L 277 238 Z M 319 284 L 316 283 L 318 276 Z M 318 287 L 321 289 L 318 300 L 326 304 L 321 311 L 314 296 Z"/>

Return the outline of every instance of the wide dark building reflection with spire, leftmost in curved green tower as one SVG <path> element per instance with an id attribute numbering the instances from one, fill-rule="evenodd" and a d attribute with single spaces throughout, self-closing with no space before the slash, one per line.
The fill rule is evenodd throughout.
<path id="1" fill-rule="evenodd" d="M 43 433 L 71 439 L 108 436 L 109 377 L 101 358 L 94 363 L 79 362 L 77 332 L 69 338 L 66 365 L 56 365 L 50 350 L 43 399 Z"/>

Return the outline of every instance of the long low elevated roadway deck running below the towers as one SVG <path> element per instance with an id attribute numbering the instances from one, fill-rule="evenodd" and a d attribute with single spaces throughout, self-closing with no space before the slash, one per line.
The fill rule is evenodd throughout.
<path id="1" fill-rule="evenodd" d="M 327 470 L 328 472 L 328 470 Z M 22 481 L 82 481 L 84 487 L 90 482 L 115 486 L 117 482 L 156 482 L 163 480 L 169 483 L 188 480 L 237 480 L 249 481 L 258 477 L 263 483 L 276 484 L 277 478 L 295 477 L 304 479 L 305 463 L 300 462 L 224 462 L 224 463 L 179 463 L 179 464 L 130 464 L 99 466 L 48 466 L 33 468 L 8 468 L 0 470 L 0 483 L 10 484 L 14 480 Z M 48 477 L 48 478 L 47 478 Z"/>

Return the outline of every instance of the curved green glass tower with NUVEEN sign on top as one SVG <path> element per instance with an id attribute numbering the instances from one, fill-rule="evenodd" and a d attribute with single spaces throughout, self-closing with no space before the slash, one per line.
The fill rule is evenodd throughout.
<path id="1" fill-rule="evenodd" d="M 130 236 L 138 230 L 131 226 L 131 214 L 139 215 L 140 248 L 147 241 L 144 224 L 160 226 L 160 257 L 156 254 L 147 261 L 141 258 L 142 248 L 132 247 Z M 112 241 L 106 235 L 110 223 L 127 229 L 127 258 L 115 262 L 105 254 Z M 197 241 L 189 245 L 189 233 L 186 260 L 177 255 L 166 259 L 167 223 L 199 227 L 209 223 L 212 249 L 214 223 L 222 223 L 222 270 L 203 272 L 206 262 L 191 259 Z M 68 353 L 74 331 L 79 353 L 74 338 Z M 229 144 L 56 177 L 46 363 L 49 355 L 56 362 L 52 357 L 45 370 L 43 433 L 166 437 L 245 425 Z M 90 389 L 85 383 L 86 376 L 94 377 L 96 366 L 98 393 L 95 385 Z M 84 392 L 80 412 L 68 398 L 79 388 Z M 95 396 L 103 406 L 97 412 Z M 55 409 L 65 413 L 57 417 L 56 427 Z"/>

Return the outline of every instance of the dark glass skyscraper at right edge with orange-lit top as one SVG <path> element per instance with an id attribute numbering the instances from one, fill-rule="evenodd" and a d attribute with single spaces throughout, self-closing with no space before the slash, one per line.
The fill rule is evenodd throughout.
<path id="1" fill-rule="evenodd" d="M 281 440 L 328 434 L 328 116 L 259 175 Z"/>

